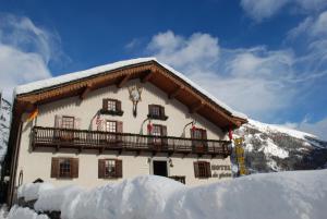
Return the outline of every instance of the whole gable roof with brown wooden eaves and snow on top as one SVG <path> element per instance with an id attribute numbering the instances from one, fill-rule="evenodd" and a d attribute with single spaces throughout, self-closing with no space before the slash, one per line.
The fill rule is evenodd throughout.
<path id="1" fill-rule="evenodd" d="M 109 85 L 121 87 L 125 82 L 140 78 L 149 82 L 189 107 L 191 113 L 198 113 L 220 127 L 237 127 L 246 122 L 246 115 L 232 110 L 216 97 L 202 89 L 174 69 L 158 62 L 155 58 L 120 61 L 62 76 L 38 81 L 15 88 L 15 98 L 23 108 L 80 96 Z M 29 107 L 28 107 L 29 106 Z"/>

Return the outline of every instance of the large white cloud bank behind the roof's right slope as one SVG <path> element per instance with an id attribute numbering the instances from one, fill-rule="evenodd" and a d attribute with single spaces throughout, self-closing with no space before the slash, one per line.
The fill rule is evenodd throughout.
<path id="1" fill-rule="evenodd" d="M 272 121 L 291 108 L 294 99 L 326 74 L 311 68 L 299 69 L 314 64 L 317 53 L 296 57 L 291 49 L 226 49 L 219 46 L 217 37 L 202 33 L 189 38 L 170 31 L 159 33 L 148 42 L 147 52 L 229 106 L 263 121 Z"/>

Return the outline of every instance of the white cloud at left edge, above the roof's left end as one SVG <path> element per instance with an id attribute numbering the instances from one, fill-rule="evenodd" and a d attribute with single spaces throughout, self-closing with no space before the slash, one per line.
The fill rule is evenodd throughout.
<path id="1" fill-rule="evenodd" d="M 48 63 L 61 56 L 60 38 L 28 17 L 0 14 L 0 88 L 11 99 L 13 87 L 50 77 Z M 55 56 L 56 53 L 56 56 Z"/>

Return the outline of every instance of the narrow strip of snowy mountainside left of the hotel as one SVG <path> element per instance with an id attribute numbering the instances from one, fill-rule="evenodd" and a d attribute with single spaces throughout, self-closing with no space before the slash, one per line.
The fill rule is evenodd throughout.
<path id="1" fill-rule="evenodd" d="M 7 153 L 7 145 L 9 138 L 11 104 L 1 98 L 0 94 L 0 162 L 2 162 Z"/>

